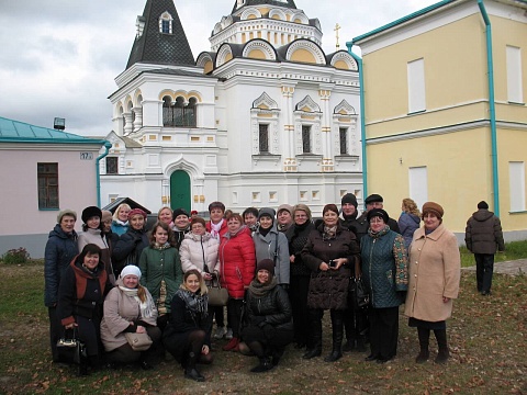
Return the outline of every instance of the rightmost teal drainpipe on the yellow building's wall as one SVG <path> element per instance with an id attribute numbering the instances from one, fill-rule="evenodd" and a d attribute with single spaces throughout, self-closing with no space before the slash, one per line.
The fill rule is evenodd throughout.
<path id="1" fill-rule="evenodd" d="M 497 174 L 497 132 L 496 132 L 496 104 L 494 102 L 494 65 L 492 60 L 492 26 L 483 0 L 478 0 L 481 16 L 485 22 L 486 34 L 486 67 L 489 78 L 489 110 L 491 113 L 491 145 L 492 145 L 492 181 L 494 192 L 494 213 L 500 216 L 500 183 Z"/>

